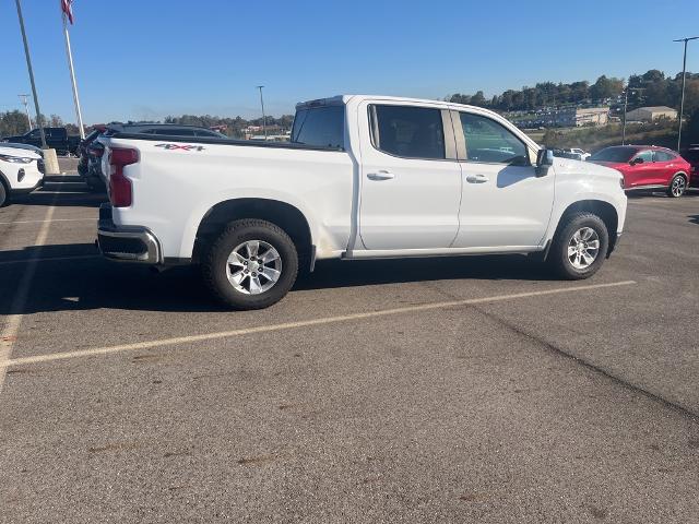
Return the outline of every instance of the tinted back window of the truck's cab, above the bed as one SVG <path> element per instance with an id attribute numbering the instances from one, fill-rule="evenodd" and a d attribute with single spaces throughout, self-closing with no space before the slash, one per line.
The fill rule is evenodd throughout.
<path id="1" fill-rule="evenodd" d="M 317 147 L 345 146 L 345 107 L 321 106 L 299 109 L 294 118 L 292 142 Z"/>

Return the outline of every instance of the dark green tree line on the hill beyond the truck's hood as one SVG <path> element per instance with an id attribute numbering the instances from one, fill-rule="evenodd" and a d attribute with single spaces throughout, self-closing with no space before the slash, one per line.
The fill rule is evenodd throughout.
<path id="1" fill-rule="evenodd" d="M 679 109 L 682 96 L 682 73 L 666 76 L 657 69 L 643 74 L 632 74 L 628 79 L 629 109 L 641 106 L 668 106 Z M 446 97 L 455 104 L 469 104 L 498 111 L 532 111 L 544 107 L 587 104 L 620 104 L 625 90 L 623 79 L 600 76 L 593 84 L 588 81 L 556 84 L 541 82 L 534 87 L 508 90 L 487 98 L 483 91 L 475 95 L 457 93 Z M 690 114 L 699 107 L 699 73 L 687 73 L 685 109 Z"/>

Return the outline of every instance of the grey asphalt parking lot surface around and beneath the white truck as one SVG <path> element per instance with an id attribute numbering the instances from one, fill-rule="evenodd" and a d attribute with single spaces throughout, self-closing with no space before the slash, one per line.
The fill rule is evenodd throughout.
<path id="1" fill-rule="evenodd" d="M 699 194 L 590 281 L 325 262 L 229 312 L 51 180 L 0 210 L 1 522 L 699 522 Z"/>

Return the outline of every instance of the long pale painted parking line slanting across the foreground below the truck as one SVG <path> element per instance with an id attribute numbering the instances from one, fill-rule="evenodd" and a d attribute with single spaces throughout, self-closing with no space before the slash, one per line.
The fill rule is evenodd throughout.
<path id="1" fill-rule="evenodd" d="M 239 330 L 222 331 L 217 333 L 204 333 L 201 335 L 179 336 L 175 338 L 163 338 L 157 341 L 137 342 L 133 344 L 122 344 L 118 346 L 95 347 L 92 349 L 80 349 L 75 352 L 61 352 L 61 353 L 36 355 L 32 357 L 23 357 L 23 358 L 15 358 L 15 359 L 7 359 L 7 360 L 3 359 L 2 361 L 0 361 L 0 367 L 7 369 L 11 366 L 24 366 L 24 365 L 32 365 L 32 364 L 39 364 L 39 362 L 50 362 L 55 360 L 66 360 L 71 358 L 91 357 L 96 355 L 109 355 L 115 353 L 131 352 L 135 349 L 151 349 L 153 347 L 173 346 L 173 345 L 180 345 L 180 344 L 190 344 L 196 342 L 208 342 L 208 341 L 214 341 L 220 338 L 229 338 L 233 336 L 250 335 L 254 333 L 270 333 L 270 332 L 276 332 L 276 331 L 284 331 L 284 330 L 294 330 L 298 327 L 310 327 L 315 325 L 348 322 L 353 320 L 366 320 L 366 319 L 374 319 L 378 317 L 414 313 L 414 312 L 420 312 L 420 311 L 429 311 L 435 309 L 445 309 L 445 308 L 452 308 L 452 307 L 459 307 L 459 306 L 470 306 L 470 305 L 476 305 L 476 303 L 493 303 L 493 302 L 500 302 L 505 300 L 514 300 L 518 298 L 542 297 L 546 295 L 559 295 L 565 293 L 590 291 L 594 289 L 630 286 L 633 284 L 636 284 L 636 281 L 623 281 L 623 282 L 613 282 L 608 284 L 591 284 L 587 286 L 559 287 L 555 289 L 545 289 L 541 291 L 516 293 L 510 295 L 497 295 L 493 297 L 469 298 L 464 300 L 450 300 L 445 302 L 423 303 L 419 306 L 406 306 L 403 308 L 384 309 L 384 310 L 364 312 L 364 313 L 352 313 L 352 314 L 344 314 L 339 317 L 324 317 L 320 319 L 301 320 L 297 322 L 286 322 L 282 324 L 242 327 Z M 4 374 L 4 369 L 1 371 L 2 374 Z"/>

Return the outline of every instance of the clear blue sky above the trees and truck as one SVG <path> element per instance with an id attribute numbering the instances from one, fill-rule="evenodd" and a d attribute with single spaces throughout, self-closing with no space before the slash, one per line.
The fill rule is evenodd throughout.
<path id="1" fill-rule="evenodd" d="M 74 121 L 59 0 L 22 5 L 42 110 Z M 672 40 L 699 34 L 697 0 L 75 0 L 74 12 L 85 123 L 256 117 L 258 84 L 281 115 L 342 93 L 491 96 L 651 68 L 674 75 Z M 0 26 L 4 111 L 31 92 L 14 0 L 0 0 Z M 699 71 L 699 40 L 687 69 Z"/>

